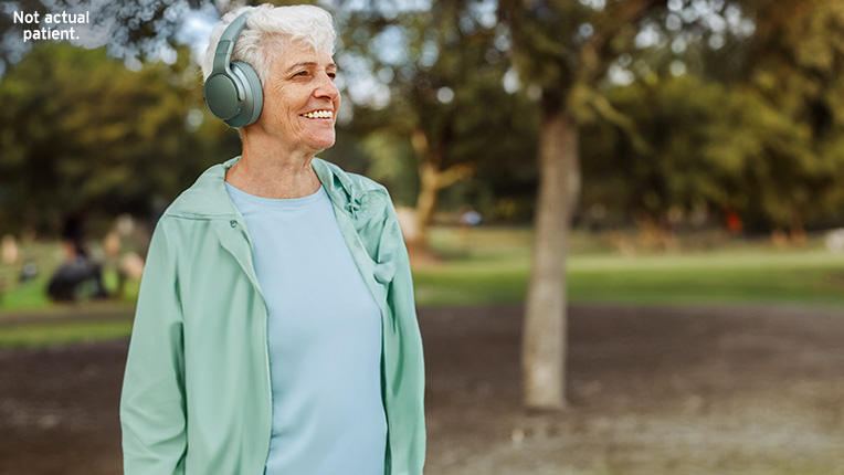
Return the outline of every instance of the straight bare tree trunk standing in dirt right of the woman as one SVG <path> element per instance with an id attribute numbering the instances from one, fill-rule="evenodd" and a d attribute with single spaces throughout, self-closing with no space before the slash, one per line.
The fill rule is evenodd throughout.
<path id="1" fill-rule="evenodd" d="M 523 332 L 523 398 L 528 409 L 566 407 L 566 256 L 580 188 L 578 130 L 561 106 L 546 107 L 534 264 Z"/>

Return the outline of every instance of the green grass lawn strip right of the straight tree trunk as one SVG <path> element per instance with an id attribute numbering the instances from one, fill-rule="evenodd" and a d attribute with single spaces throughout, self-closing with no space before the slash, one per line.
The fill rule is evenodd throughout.
<path id="1" fill-rule="evenodd" d="M 573 256 L 569 293 L 572 302 L 844 308 L 844 260 L 816 249 L 629 258 Z"/>

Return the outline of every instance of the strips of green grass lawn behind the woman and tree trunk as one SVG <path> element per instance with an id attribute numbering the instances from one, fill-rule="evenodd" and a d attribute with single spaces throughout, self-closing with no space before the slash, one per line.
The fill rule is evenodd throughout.
<path id="1" fill-rule="evenodd" d="M 420 306 L 518 304 L 524 302 L 531 255 L 529 229 L 479 228 L 470 233 L 433 230 L 432 247 L 442 262 L 414 270 Z M 844 310 L 844 255 L 820 242 L 777 249 L 768 241 L 729 241 L 703 250 L 624 256 L 600 236 L 574 233 L 568 263 L 572 303 L 636 305 L 759 304 L 827 306 Z M 697 250 L 695 250 L 697 249 Z M 106 274 L 114 286 L 114 275 Z M 27 312 L 32 324 L 0 327 L 0 348 L 42 346 L 127 336 L 129 321 L 44 324 L 39 315 L 61 313 L 44 295 L 46 277 L 7 291 L 4 317 Z M 131 307 L 138 283 L 113 304 Z"/>

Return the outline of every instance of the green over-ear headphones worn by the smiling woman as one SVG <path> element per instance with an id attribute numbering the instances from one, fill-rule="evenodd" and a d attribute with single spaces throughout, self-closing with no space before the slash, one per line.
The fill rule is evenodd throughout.
<path id="1" fill-rule="evenodd" d="M 264 105 L 261 80 L 255 70 L 242 61 L 232 61 L 234 42 L 246 28 L 249 13 L 235 18 L 223 31 L 214 52 L 214 68 L 202 88 L 202 98 L 211 114 L 232 127 L 257 120 Z"/>

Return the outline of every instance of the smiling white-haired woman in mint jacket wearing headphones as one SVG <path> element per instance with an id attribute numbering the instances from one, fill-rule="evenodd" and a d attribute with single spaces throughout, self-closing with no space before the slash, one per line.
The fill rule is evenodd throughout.
<path id="1" fill-rule="evenodd" d="M 422 346 L 395 212 L 383 187 L 315 157 L 340 105 L 331 18 L 265 4 L 211 36 L 205 99 L 243 151 L 156 228 L 125 473 L 421 475 Z"/>

